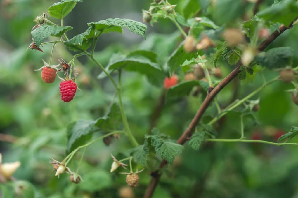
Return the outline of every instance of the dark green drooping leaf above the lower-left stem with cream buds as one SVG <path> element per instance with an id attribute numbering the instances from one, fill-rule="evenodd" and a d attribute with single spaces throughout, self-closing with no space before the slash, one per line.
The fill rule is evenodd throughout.
<path id="1" fill-rule="evenodd" d="M 70 123 L 67 126 L 67 151 L 72 152 L 75 148 L 83 145 L 86 141 L 90 140 L 93 133 L 94 120 L 78 120 Z"/>

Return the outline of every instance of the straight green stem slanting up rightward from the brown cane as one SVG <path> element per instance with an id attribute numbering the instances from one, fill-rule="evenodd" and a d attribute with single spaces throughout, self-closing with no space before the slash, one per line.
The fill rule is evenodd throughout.
<path id="1" fill-rule="evenodd" d="M 263 84 L 262 86 L 260 86 L 260 87 L 257 88 L 256 90 L 254 90 L 252 93 L 248 94 L 248 95 L 247 95 L 246 97 L 244 97 L 243 99 L 241 99 L 241 100 L 235 102 L 235 104 L 232 105 L 231 107 L 224 109 L 223 112 L 222 112 L 220 115 L 218 115 L 218 116 L 216 116 L 215 118 L 213 118 L 213 119 L 208 123 L 208 125 L 212 125 L 213 123 L 215 123 L 216 121 L 218 121 L 218 119 L 220 119 L 221 117 L 223 117 L 224 115 L 226 115 L 226 113 L 227 113 L 228 111 L 235 109 L 235 108 L 238 107 L 240 104 L 242 104 L 243 102 L 245 102 L 247 99 L 249 99 L 250 97 L 254 96 L 254 95 L 257 94 L 258 92 L 260 92 L 261 90 L 263 90 L 263 88 L 266 87 L 268 84 L 270 84 L 270 83 L 272 83 L 272 82 L 278 80 L 278 78 L 279 78 L 279 76 L 276 77 L 276 78 L 274 78 L 274 79 L 272 79 L 272 80 L 270 80 L 270 81 L 268 81 L 268 83 Z"/>

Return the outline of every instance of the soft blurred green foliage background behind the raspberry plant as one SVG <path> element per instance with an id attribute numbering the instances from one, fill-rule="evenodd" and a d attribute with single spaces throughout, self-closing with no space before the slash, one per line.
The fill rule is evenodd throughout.
<path id="1" fill-rule="evenodd" d="M 205 6 L 210 1 L 199 2 L 202 13 L 211 18 L 212 10 Z M 261 9 L 272 2 L 264 1 Z M 114 94 L 111 82 L 108 79 L 98 80 L 96 76 L 101 72 L 100 69 L 86 57 L 80 57 L 80 62 L 76 62 L 80 73 L 77 85 L 82 91 L 77 91 L 70 103 L 61 101 L 58 79 L 52 84 L 46 84 L 40 72 L 34 71 L 43 66 L 42 59 L 49 61 L 52 46 L 42 47 L 44 54 L 26 51 L 32 42 L 30 32 L 35 25 L 33 20 L 46 12 L 53 3 L 55 1 L 52 0 L 1 1 L 0 133 L 15 137 L 7 141 L 4 138 L 6 136 L 0 136 L 3 162 L 21 161 L 21 167 L 14 177 L 30 182 L 34 186 L 35 197 L 119 197 L 119 189 L 126 186 L 125 175 L 109 172 L 112 163 L 110 153 L 121 159 L 123 153 L 120 151 L 130 148 L 125 137 L 115 140 L 110 146 L 100 141 L 88 147 L 80 167 L 80 175 L 85 182 L 80 184 L 72 183 L 66 174 L 60 175 L 58 179 L 49 164 L 51 158 L 62 160 L 65 157 L 66 126 L 78 119 L 103 116 Z M 78 3 L 65 18 L 64 25 L 74 27 L 67 35 L 71 38 L 84 32 L 88 28 L 86 23 L 106 18 L 131 18 L 141 22 L 142 9 L 148 9 L 150 3 L 149 0 L 85 0 Z M 178 4 L 178 12 L 183 9 L 183 0 L 170 3 Z M 53 18 L 51 20 L 59 23 Z M 297 38 L 298 27 L 294 26 L 268 49 L 289 46 L 297 52 Z M 159 64 L 163 65 L 181 39 L 176 27 L 169 20 L 161 19 L 154 27 L 148 25 L 146 41 L 126 30 L 123 34 L 109 33 L 101 36 L 94 57 L 106 66 L 115 53 L 127 54 L 134 49 L 145 49 L 158 54 Z M 68 62 L 73 55 L 72 51 L 58 43 L 53 64 L 58 64 L 60 57 Z M 219 62 L 224 76 L 232 71 L 233 68 L 225 61 Z M 297 66 L 297 62 L 298 55 L 295 53 L 294 66 Z M 181 71 L 177 74 L 182 81 L 184 74 Z M 265 70 L 268 80 L 277 74 Z M 149 117 L 163 89 L 151 85 L 145 76 L 134 72 L 124 72 L 122 79 L 123 103 L 128 121 L 137 140 L 142 142 L 144 134 L 149 131 Z M 260 73 L 255 72 L 252 77 L 240 82 L 237 98 L 243 98 L 261 83 Z M 234 86 L 235 83 L 230 83 L 218 95 L 222 107 L 229 104 Z M 290 88 L 292 85 L 275 82 L 253 98 L 260 99 L 260 110 L 255 113 L 259 124 L 246 123 L 245 136 L 248 139 L 257 134 L 263 140 L 276 142 L 275 134 L 278 131 L 287 132 L 291 126 L 298 125 L 298 107 L 291 102 L 290 94 L 285 92 Z M 157 127 L 176 140 L 186 129 L 201 101 L 201 97 L 194 96 L 168 101 Z M 215 113 L 215 105 L 212 104 L 204 114 L 203 122 L 207 122 Z M 240 137 L 238 119 L 228 115 L 222 123 L 217 124 L 218 137 Z M 94 137 L 99 136 L 100 133 L 94 134 Z M 294 138 L 293 142 L 298 142 L 298 138 Z M 176 157 L 173 165 L 169 165 L 169 171 L 164 171 L 154 197 L 298 197 L 297 156 L 296 146 L 205 143 L 199 151 L 194 151 L 186 143 L 183 153 Z M 79 158 L 80 154 L 70 164 L 71 168 L 76 168 Z M 148 162 L 150 165 L 140 174 L 140 186 L 133 190 L 135 197 L 144 194 L 150 180 L 149 172 L 156 168 L 158 160 L 151 159 Z M 7 194 L 14 191 L 13 187 L 3 189 L 6 189 Z"/>

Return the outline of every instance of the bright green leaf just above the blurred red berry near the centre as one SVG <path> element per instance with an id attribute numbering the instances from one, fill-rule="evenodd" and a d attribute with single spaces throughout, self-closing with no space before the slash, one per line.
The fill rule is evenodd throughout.
<path id="1" fill-rule="evenodd" d="M 187 53 L 183 47 L 184 42 L 177 47 L 177 49 L 171 54 L 167 60 L 167 66 L 169 67 L 169 72 L 173 73 L 180 65 L 184 63 L 185 60 L 191 60 L 192 58 L 197 58 L 198 55 L 203 55 L 199 52 Z"/>

